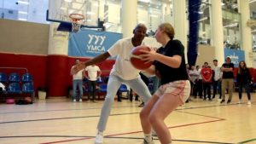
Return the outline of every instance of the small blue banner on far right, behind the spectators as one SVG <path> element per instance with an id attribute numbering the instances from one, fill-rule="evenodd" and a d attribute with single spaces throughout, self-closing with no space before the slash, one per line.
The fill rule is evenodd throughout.
<path id="1" fill-rule="evenodd" d="M 231 62 L 234 63 L 234 66 L 238 67 L 239 61 L 245 60 L 245 55 L 243 50 L 236 49 L 224 49 L 224 56 L 230 57 Z"/>

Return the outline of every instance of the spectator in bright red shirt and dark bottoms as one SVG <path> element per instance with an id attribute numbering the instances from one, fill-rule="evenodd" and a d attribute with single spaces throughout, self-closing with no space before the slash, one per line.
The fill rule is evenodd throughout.
<path id="1" fill-rule="evenodd" d="M 204 100 L 207 100 L 207 95 L 209 101 L 211 98 L 211 84 L 212 84 L 212 69 L 208 66 L 208 62 L 204 63 L 204 67 L 201 69 L 202 84 L 204 89 Z"/>

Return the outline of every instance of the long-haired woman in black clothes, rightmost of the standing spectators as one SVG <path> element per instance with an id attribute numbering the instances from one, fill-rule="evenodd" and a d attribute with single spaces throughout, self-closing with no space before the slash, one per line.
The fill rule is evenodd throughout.
<path id="1" fill-rule="evenodd" d="M 237 72 L 237 77 L 236 77 L 237 83 L 238 83 L 238 88 L 239 88 L 239 104 L 241 103 L 241 92 L 242 88 L 247 92 L 247 97 L 248 97 L 248 105 L 251 105 L 251 94 L 250 94 L 250 86 L 249 84 L 252 81 L 252 77 L 250 75 L 249 69 L 247 68 L 247 64 L 245 61 L 241 60 L 239 62 L 239 67 L 238 67 L 238 72 Z"/>

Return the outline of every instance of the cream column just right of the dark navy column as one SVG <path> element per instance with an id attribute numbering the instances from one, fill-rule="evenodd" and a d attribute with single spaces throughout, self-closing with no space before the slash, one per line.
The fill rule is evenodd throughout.
<path id="1" fill-rule="evenodd" d="M 221 0 L 212 0 L 211 24 L 212 24 L 212 46 L 215 47 L 215 58 L 219 64 L 224 63 L 224 33 L 222 22 Z"/>

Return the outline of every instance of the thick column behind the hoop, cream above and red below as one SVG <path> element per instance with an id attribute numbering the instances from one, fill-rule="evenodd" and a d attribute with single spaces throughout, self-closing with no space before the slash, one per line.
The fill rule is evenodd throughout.
<path id="1" fill-rule="evenodd" d="M 51 7 L 58 8 L 58 3 L 52 4 Z M 67 96 L 67 76 L 70 69 L 68 68 L 68 32 L 56 31 L 59 23 L 52 22 L 49 26 L 49 48 L 47 56 L 47 95 L 49 96 Z"/>

